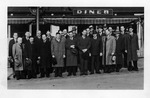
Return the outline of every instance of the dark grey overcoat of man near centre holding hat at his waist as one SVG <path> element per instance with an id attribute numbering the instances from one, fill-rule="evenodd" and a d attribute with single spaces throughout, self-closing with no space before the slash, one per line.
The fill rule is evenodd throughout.
<path id="1" fill-rule="evenodd" d="M 77 47 L 77 40 L 73 38 L 72 40 L 70 37 L 66 39 L 66 66 L 77 66 L 77 54 L 72 52 L 71 45 L 75 45 L 75 49 Z M 77 49 L 76 49 L 77 50 Z"/>

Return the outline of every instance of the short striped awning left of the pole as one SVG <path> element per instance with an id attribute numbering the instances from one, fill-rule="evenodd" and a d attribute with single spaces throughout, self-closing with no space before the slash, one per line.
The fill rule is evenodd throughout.
<path id="1" fill-rule="evenodd" d="M 35 18 L 8 18 L 8 24 L 28 24 Z"/>

